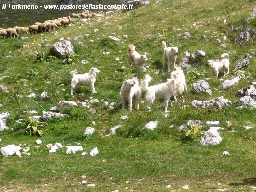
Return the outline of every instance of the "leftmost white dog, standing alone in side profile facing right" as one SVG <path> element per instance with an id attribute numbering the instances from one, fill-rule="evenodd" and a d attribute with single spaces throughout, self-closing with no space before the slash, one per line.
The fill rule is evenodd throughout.
<path id="1" fill-rule="evenodd" d="M 70 94 L 73 95 L 76 94 L 75 89 L 80 85 L 90 85 L 91 86 L 91 92 L 96 93 L 95 88 L 94 88 L 94 82 L 96 81 L 96 74 L 100 73 L 101 71 L 98 70 L 97 68 L 92 67 L 89 71 L 89 73 L 84 73 L 84 74 L 76 74 L 77 71 L 76 69 L 72 71 L 70 74 L 72 76 L 71 79 L 71 90 Z"/>

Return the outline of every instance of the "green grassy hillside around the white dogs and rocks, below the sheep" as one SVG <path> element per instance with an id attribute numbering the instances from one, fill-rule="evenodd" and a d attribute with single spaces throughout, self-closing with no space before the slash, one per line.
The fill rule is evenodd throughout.
<path id="1" fill-rule="evenodd" d="M 0 156 L 0 191 L 95 191 L 111 192 L 118 190 L 133 192 L 148 191 L 254 191 L 256 187 L 256 119 L 255 110 L 237 109 L 226 106 L 217 108 L 197 109 L 192 107 L 192 100 L 207 100 L 223 96 L 235 101 L 236 91 L 249 86 L 248 81 L 255 82 L 256 58 L 255 42 L 244 46 L 235 44 L 238 35 L 232 27 L 242 27 L 242 21 L 250 17 L 255 7 L 252 0 L 163 0 L 131 11 L 117 11 L 106 19 L 94 18 L 85 22 L 73 22 L 71 27 L 56 29 L 54 32 L 19 38 L 0 39 L 0 77 L 9 76 L 0 81 L 8 92 L 0 92 L 0 114 L 10 114 L 7 126 L 13 130 L 0 132 L 0 147 L 10 144 L 22 144 L 30 147 L 26 156 Z M 42 16 L 43 17 L 43 16 Z M 226 19 L 226 22 L 224 20 Z M 248 27 L 254 28 L 254 18 Z M 98 32 L 94 32 L 98 29 Z M 165 29 L 163 32 L 163 29 Z M 184 38 L 184 32 L 192 36 Z M 89 34 L 85 38 L 85 34 Z M 74 40 L 77 36 L 83 39 Z M 112 41 L 108 36 L 114 35 L 121 41 Z M 206 40 L 203 37 L 206 35 Z M 128 36 L 128 37 L 126 37 Z M 223 37 L 227 36 L 224 41 Z M 73 64 L 63 64 L 63 59 L 50 55 L 50 47 L 60 38 L 71 39 L 78 57 Z M 222 48 L 216 39 L 227 44 Z M 35 39 L 43 61 L 36 57 L 23 45 L 34 49 Z M 47 39 L 47 40 L 45 40 Z M 179 97 L 178 103 L 169 105 L 168 117 L 164 113 L 163 101 L 155 100 L 152 111 L 146 110 L 142 98 L 140 110 L 131 112 L 121 110 L 120 88 L 124 80 L 137 76 L 143 79 L 146 73 L 153 77 L 150 85 L 166 82 L 170 73 L 164 75 L 155 72 L 162 66 L 162 43 L 177 46 L 179 52 L 192 53 L 196 50 L 206 52 L 201 66 L 192 68 L 195 73 L 186 72 L 188 92 L 183 94 L 184 101 Z M 147 52 L 149 61 L 146 73 L 139 73 L 134 68 L 127 68 L 127 45 L 134 44 L 139 53 Z M 106 54 L 106 52 L 110 52 Z M 191 85 L 198 80 L 210 77 L 207 66 L 208 59 L 220 58 L 222 53 L 230 52 L 230 71 L 238 64 L 238 60 L 248 53 L 252 56 L 250 66 L 244 69 L 246 79 L 235 86 L 223 90 L 220 80 L 231 79 L 236 74 L 210 78 L 208 83 L 213 91 L 212 96 L 197 94 L 191 91 Z M 253 53 L 254 52 L 254 53 Z M 82 60 L 86 63 L 83 64 Z M 177 63 L 181 61 L 178 55 Z M 126 68 L 122 69 L 122 66 Z M 97 67 L 101 73 L 97 75 L 95 88 L 97 93 L 91 95 L 89 86 L 80 86 L 78 95 L 70 95 L 70 72 L 77 69 L 78 73 L 87 73 L 91 67 Z M 41 100 L 40 94 L 46 91 L 48 100 Z M 35 98 L 28 98 L 35 93 Z M 62 114 L 69 117 L 47 120 L 42 137 L 30 136 L 26 133 L 26 124 L 18 124 L 18 119 L 28 119 L 29 114 L 22 111 L 36 110 L 40 115 L 43 110 L 55 106 L 59 101 L 85 102 L 92 98 L 94 103 L 91 113 L 87 107 L 64 107 Z M 114 109 L 109 110 L 104 101 L 115 102 Z M 182 106 L 188 105 L 183 108 Z M 120 120 L 124 115 L 126 120 Z M 223 141 L 216 146 L 202 146 L 200 137 L 190 140 L 184 132 L 177 128 L 188 120 L 220 121 Z M 159 121 L 154 131 L 143 129 L 149 121 Z M 227 127 L 226 121 L 233 125 Z M 93 123 L 95 122 L 95 125 Z M 122 125 L 116 135 L 109 134 L 110 128 Z M 170 128 L 174 125 L 173 128 Z M 252 129 L 245 130 L 249 125 Z M 91 137 L 83 135 L 86 127 L 95 128 Z M 231 132 L 235 130 L 235 132 Z M 42 145 L 35 148 L 35 140 L 41 139 Z M 64 148 L 56 153 L 49 153 L 46 145 L 59 142 Z M 80 145 L 88 154 L 81 156 L 78 152 L 67 155 L 66 146 Z M 26 145 L 25 145 L 26 144 Z M 91 157 L 89 152 L 98 147 L 99 155 Z M 228 151 L 231 155 L 223 156 Z M 81 179 L 81 175 L 86 175 Z M 86 180 L 88 187 L 79 182 Z M 169 188 L 166 186 L 170 185 Z M 187 186 L 189 189 L 184 189 Z"/>

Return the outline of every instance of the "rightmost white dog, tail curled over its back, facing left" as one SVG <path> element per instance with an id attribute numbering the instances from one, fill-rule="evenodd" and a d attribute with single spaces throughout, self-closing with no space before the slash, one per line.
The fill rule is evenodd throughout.
<path id="1" fill-rule="evenodd" d="M 224 53 L 221 55 L 221 58 L 222 59 L 219 61 L 208 60 L 208 65 L 211 70 L 211 77 L 213 76 L 213 73 L 215 73 L 215 77 L 218 78 L 220 71 L 224 71 L 224 76 L 229 74 L 229 54 Z"/>

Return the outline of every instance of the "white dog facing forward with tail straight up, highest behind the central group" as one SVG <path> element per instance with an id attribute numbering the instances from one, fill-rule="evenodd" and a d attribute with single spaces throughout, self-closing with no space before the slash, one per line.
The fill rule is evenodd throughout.
<path id="1" fill-rule="evenodd" d="M 167 47 L 165 41 L 162 41 L 162 44 L 163 44 L 163 51 L 164 51 L 164 54 L 163 54 L 163 69 L 165 68 L 166 60 L 168 60 L 167 69 L 168 69 L 168 72 L 169 72 L 171 64 L 173 64 L 174 67 L 176 65 L 176 58 L 177 58 L 177 55 L 179 53 L 178 47 L 176 47 L 176 46 Z"/>

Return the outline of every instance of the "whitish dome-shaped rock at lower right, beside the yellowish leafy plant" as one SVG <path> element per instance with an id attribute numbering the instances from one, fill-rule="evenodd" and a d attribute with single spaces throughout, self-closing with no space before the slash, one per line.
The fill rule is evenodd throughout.
<path id="1" fill-rule="evenodd" d="M 220 137 L 218 131 L 209 129 L 201 138 L 200 143 L 204 146 L 214 146 L 219 144 L 221 141 L 222 138 Z"/>

